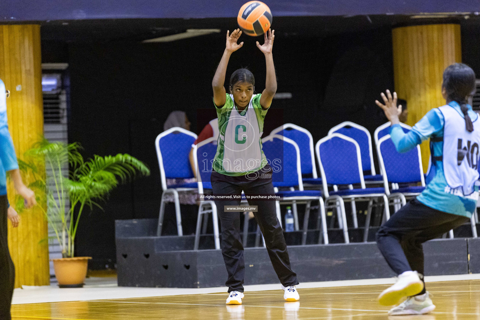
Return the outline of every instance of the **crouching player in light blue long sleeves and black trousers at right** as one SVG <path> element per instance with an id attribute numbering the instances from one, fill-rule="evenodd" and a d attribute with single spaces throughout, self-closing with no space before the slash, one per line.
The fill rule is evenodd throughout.
<path id="1" fill-rule="evenodd" d="M 469 222 L 478 200 L 480 154 L 479 116 L 468 105 L 475 90 L 475 73 L 465 64 L 448 66 L 443 74 L 446 105 L 429 111 L 404 133 L 399 125 L 396 93 L 386 91 L 381 107 L 392 123 L 390 137 L 400 153 L 430 138 L 435 177 L 425 190 L 386 221 L 376 234 L 378 249 L 398 275 L 396 284 L 378 300 L 394 305 L 389 315 L 424 314 L 435 309 L 423 282 L 422 243 Z"/>

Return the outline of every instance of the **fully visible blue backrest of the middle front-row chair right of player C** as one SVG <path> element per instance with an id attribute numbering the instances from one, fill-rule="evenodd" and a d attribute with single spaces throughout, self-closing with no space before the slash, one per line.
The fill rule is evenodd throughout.
<path id="1" fill-rule="evenodd" d="M 354 139 L 340 133 L 332 133 L 316 143 L 315 152 L 326 197 L 328 184 L 360 183 L 361 188 L 365 189 L 360 146 Z"/>

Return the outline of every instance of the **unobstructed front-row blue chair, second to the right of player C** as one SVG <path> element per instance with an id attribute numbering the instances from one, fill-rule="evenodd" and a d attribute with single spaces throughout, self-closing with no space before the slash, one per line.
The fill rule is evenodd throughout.
<path id="1" fill-rule="evenodd" d="M 332 133 L 320 139 L 315 145 L 324 184 L 325 207 L 336 208 L 338 224 L 343 229 L 345 242 L 349 243 L 347 217 L 344 201 L 369 201 L 369 212 L 373 201 L 384 201 L 384 214 L 390 218 L 388 199 L 384 188 L 366 188 L 359 144 L 352 138 L 340 133 Z M 353 185 L 360 184 L 354 189 Z M 328 185 L 334 185 L 328 191 Z M 338 190 L 337 186 L 348 186 Z M 353 212 L 352 212 L 353 214 Z"/>

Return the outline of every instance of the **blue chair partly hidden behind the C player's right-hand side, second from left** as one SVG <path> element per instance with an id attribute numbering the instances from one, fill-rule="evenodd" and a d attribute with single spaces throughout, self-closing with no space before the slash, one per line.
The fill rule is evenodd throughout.
<path id="1" fill-rule="evenodd" d="M 195 170 L 197 172 L 197 184 L 198 184 L 198 193 L 204 194 L 204 190 L 212 189 L 212 183 L 210 182 L 210 176 L 212 174 L 212 163 L 216 154 L 216 137 L 208 138 L 202 142 L 193 146 L 193 161 L 195 163 Z M 197 218 L 197 227 L 195 231 L 195 242 L 193 245 L 193 250 L 198 250 L 200 243 L 200 234 L 202 232 L 202 220 L 203 220 L 203 233 L 206 231 L 206 226 L 208 223 L 208 213 L 212 213 L 213 221 L 213 233 L 215 239 L 215 249 L 220 249 L 220 239 L 218 232 L 218 216 L 216 211 L 215 201 L 211 200 L 200 200 L 198 206 L 198 218 Z"/>

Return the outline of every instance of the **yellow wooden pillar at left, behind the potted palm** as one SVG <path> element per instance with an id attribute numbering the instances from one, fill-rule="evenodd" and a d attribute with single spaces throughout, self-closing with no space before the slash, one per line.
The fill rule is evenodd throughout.
<path id="1" fill-rule="evenodd" d="M 34 24 L 0 25 L 0 79 L 10 90 L 7 117 L 17 157 L 43 135 L 42 67 L 40 26 Z M 43 170 L 45 172 L 45 170 Z M 24 183 L 31 177 L 24 176 Z M 14 203 L 12 182 L 8 199 Z M 45 195 L 40 195 L 45 196 Z M 37 207 L 25 210 L 18 228 L 9 223 L 9 248 L 15 264 L 15 287 L 48 285 L 47 220 Z"/>

